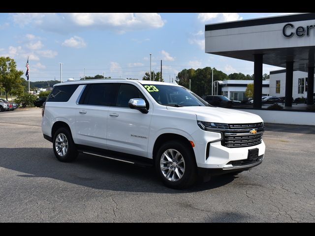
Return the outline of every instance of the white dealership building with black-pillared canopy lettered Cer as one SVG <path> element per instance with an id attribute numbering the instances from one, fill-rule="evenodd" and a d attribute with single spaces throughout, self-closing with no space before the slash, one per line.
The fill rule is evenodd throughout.
<path id="1" fill-rule="evenodd" d="M 262 105 L 263 64 L 285 68 L 281 73 L 272 72 L 269 81 L 270 95 L 283 95 L 285 108 L 292 107 L 296 92 L 307 97 L 308 105 L 314 103 L 315 13 L 205 25 L 205 52 L 254 62 L 254 109 Z M 295 84 L 304 87 L 303 92 Z M 293 113 L 288 116 L 294 117 Z"/>

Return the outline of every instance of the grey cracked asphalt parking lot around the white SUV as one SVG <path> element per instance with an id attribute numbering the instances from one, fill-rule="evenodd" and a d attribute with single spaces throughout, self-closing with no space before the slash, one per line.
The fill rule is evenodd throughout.
<path id="1" fill-rule="evenodd" d="M 315 127 L 266 124 L 261 165 L 188 190 L 150 168 L 61 163 L 41 109 L 0 113 L 0 222 L 315 222 Z"/>

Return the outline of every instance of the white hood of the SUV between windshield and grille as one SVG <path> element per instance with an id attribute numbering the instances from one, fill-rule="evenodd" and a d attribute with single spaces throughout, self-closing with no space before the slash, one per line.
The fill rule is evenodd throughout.
<path id="1" fill-rule="evenodd" d="M 219 123 L 258 123 L 263 122 L 258 115 L 221 107 L 167 107 L 170 111 L 193 113 L 197 120 Z"/>

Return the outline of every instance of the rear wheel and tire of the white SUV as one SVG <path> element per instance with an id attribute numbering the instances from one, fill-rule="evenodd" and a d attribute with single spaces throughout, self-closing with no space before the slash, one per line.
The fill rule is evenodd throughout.
<path id="1" fill-rule="evenodd" d="M 62 162 L 74 161 L 78 156 L 71 132 L 65 127 L 61 127 L 55 132 L 53 149 L 57 159 Z"/>

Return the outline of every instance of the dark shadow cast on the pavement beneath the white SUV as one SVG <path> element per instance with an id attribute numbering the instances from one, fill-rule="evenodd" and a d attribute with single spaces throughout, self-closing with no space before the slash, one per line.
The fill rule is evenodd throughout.
<path id="1" fill-rule="evenodd" d="M 76 161 L 60 162 L 52 148 L 0 148 L 0 167 L 21 172 L 18 177 L 47 177 L 95 189 L 124 192 L 189 193 L 221 187 L 233 176 L 214 177 L 186 190 L 167 188 L 154 168 L 143 168 L 102 157 L 79 154 Z"/>

